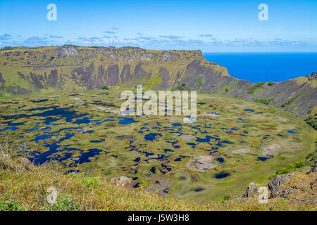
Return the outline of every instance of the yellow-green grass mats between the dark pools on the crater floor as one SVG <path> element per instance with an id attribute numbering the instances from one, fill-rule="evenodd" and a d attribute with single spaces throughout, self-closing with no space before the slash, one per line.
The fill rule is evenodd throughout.
<path id="1" fill-rule="evenodd" d="M 89 104 L 94 101 L 101 101 L 102 103 L 113 103 L 117 109 L 120 107 L 120 102 L 117 99 L 120 97 L 120 91 L 111 90 L 107 95 L 104 95 L 105 91 L 92 90 L 92 91 L 71 91 L 69 93 L 54 92 L 48 94 L 31 94 L 25 96 L 14 96 L 12 98 L 1 99 L 0 101 L 12 102 L 4 105 L 3 115 L 15 115 L 19 114 L 20 110 L 31 110 L 30 113 L 42 113 L 44 110 L 35 110 L 35 108 L 42 108 L 44 106 L 58 105 L 60 108 L 71 108 L 77 115 L 82 115 L 89 112 L 89 115 L 85 117 L 93 118 L 92 120 L 104 121 L 106 119 L 112 119 L 114 121 L 104 122 L 99 125 L 92 124 L 75 124 L 73 122 L 66 122 L 63 117 L 56 121 L 56 125 L 45 124 L 45 117 L 27 117 L 19 118 L 14 122 L 23 123 L 23 126 L 18 127 L 16 130 L 8 129 L 1 132 L 1 137 L 8 136 L 8 141 L 13 141 L 12 145 L 17 145 L 20 141 L 27 142 L 27 147 L 36 149 L 40 154 L 46 152 L 48 147 L 44 145 L 46 143 L 51 144 L 58 140 L 61 140 L 66 134 L 74 134 L 70 139 L 66 139 L 58 143 L 63 146 L 63 151 L 58 151 L 51 155 L 51 157 L 63 159 L 61 160 L 66 165 L 73 163 L 71 158 L 78 158 L 82 153 L 87 153 L 89 149 L 97 148 L 102 150 L 100 155 L 91 159 L 89 163 L 80 164 L 80 172 L 89 172 L 89 177 L 104 177 L 105 179 L 111 179 L 113 176 L 128 176 L 138 179 L 140 188 L 147 188 L 151 186 L 151 182 L 155 182 L 160 179 L 167 179 L 173 186 L 170 188 L 169 193 L 175 198 L 187 198 L 187 200 L 204 201 L 204 200 L 218 200 L 223 195 L 234 196 L 244 191 L 245 187 L 251 181 L 256 179 L 267 179 L 277 169 L 287 167 L 287 165 L 294 163 L 298 160 L 304 160 L 308 153 L 311 153 L 311 143 L 316 139 L 316 132 L 311 129 L 307 124 L 298 118 L 294 118 L 288 113 L 282 110 L 274 108 L 271 105 L 263 105 L 261 103 L 254 103 L 250 101 L 237 100 L 230 97 L 211 96 L 209 94 L 197 95 L 198 103 L 197 110 L 199 112 L 199 120 L 195 125 L 201 126 L 201 132 L 208 132 L 209 134 L 194 134 L 196 129 L 192 129 L 192 126 L 183 125 L 182 133 L 192 134 L 200 139 L 204 139 L 206 135 L 218 134 L 221 139 L 230 141 L 232 144 L 226 144 L 218 148 L 216 157 L 222 157 L 225 162 L 220 163 L 214 161 L 219 171 L 225 170 L 230 172 L 230 176 L 225 179 L 215 179 L 213 176 L 216 170 L 209 170 L 208 172 L 194 172 L 190 169 L 185 169 L 190 157 L 194 155 L 206 155 L 207 150 L 211 149 L 211 146 L 216 143 L 199 143 L 197 142 L 196 149 L 193 150 L 192 146 L 186 144 L 187 141 L 183 141 L 178 137 L 178 134 L 170 133 L 170 131 L 162 129 L 163 127 L 171 127 L 173 122 L 165 120 L 168 117 L 134 117 L 137 123 L 129 125 L 118 124 L 119 115 L 108 114 L 102 110 L 96 110 L 98 105 Z M 78 96 L 70 96 L 78 94 Z M 85 107 L 81 103 L 77 103 L 74 98 L 80 98 L 80 101 L 88 103 Z M 49 101 L 43 103 L 33 103 L 32 101 L 38 101 L 39 99 L 49 99 Z M 17 103 L 18 102 L 18 103 Z M 26 105 L 24 108 L 20 106 Z M 212 106 L 209 106 L 212 105 Z M 107 106 L 106 106 L 107 107 Z M 232 110 L 232 108 L 237 108 Z M 244 112 L 244 109 L 252 109 L 252 112 Z M 220 113 L 220 117 L 201 116 L 200 113 L 217 112 Z M 257 114 L 261 112 L 260 114 Z M 110 118 L 111 116 L 112 118 Z M 237 120 L 235 117 L 242 117 L 243 120 Z M 59 117 L 58 117 L 59 118 Z M 175 118 L 175 122 L 179 122 L 182 118 Z M 73 118 L 73 121 L 77 119 Z M 156 128 L 156 122 L 161 123 L 161 129 Z M 6 120 L 0 120 L 1 124 L 7 124 Z M 220 124 L 218 124 L 220 123 Z M 58 125 L 57 125 L 58 124 Z M 149 124 L 149 131 L 140 134 L 139 131 L 142 124 Z M 203 128 L 207 124 L 214 124 L 211 128 Z M 218 124 L 218 125 L 216 125 Z M 1 129 L 9 128 L 9 126 L 2 126 Z M 35 127 L 45 128 L 47 134 L 53 134 L 55 139 L 39 140 L 39 142 L 32 141 L 35 136 L 42 135 L 41 129 L 35 129 L 29 131 Z M 240 130 L 232 131 L 232 134 L 228 134 L 228 129 L 233 127 L 240 128 Z M 92 134 L 81 134 L 80 128 L 94 131 Z M 159 127 L 160 128 L 160 127 Z M 222 129 L 224 128 L 224 129 Z M 68 129 L 68 130 L 66 130 Z M 296 129 L 299 131 L 297 134 L 289 134 L 287 130 Z M 60 131 L 61 130 L 61 131 Z M 175 128 L 177 131 L 178 128 Z M 248 131 L 248 134 L 244 134 L 242 131 Z M 162 136 L 157 137 L 156 141 L 145 141 L 144 136 L 151 132 L 159 132 Z M 244 136 L 240 136 L 240 134 Z M 276 134 L 282 134 L 282 137 L 276 136 Z M 263 136 L 270 135 L 267 139 L 263 139 Z M 23 136 L 23 138 L 21 137 Z M 101 137 L 104 136 L 104 137 Z M 116 138 L 117 136 L 125 136 L 124 139 Z M 90 141 L 98 141 L 104 139 L 101 143 L 91 143 Z M 139 151 L 147 151 L 154 154 L 164 154 L 168 156 L 168 165 L 172 167 L 171 173 L 161 174 L 158 170 L 161 169 L 161 163 L 159 160 L 153 160 L 147 158 L 144 154 L 135 150 L 129 151 L 130 140 L 136 140 Z M 173 149 L 173 146 L 166 141 L 178 141 L 180 148 Z M 195 141 L 194 139 L 192 141 Z M 266 162 L 259 162 L 256 156 L 262 155 L 262 146 L 269 146 L 271 144 L 278 144 L 281 146 L 281 150 L 274 154 L 274 158 L 267 160 Z M 68 146 L 78 150 L 67 150 Z M 239 148 L 249 148 L 249 153 L 235 154 L 234 150 Z M 125 150 L 128 148 L 127 150 Z M 174 152 L 164 153 L 163 148 L 173 149 Z M 80 152 L 82 150 L 82 152 Z M 110 152 L 110 153 L 107 153 Z M 66 155 L 69 155 L 65 158 Z M 112 155 L 118 156 L 113 157 Z M 180 155 L 186 155 L 189 158 L 183 159 L 181 162 L 174 161 Z M 227 155 L 227 157 L 223 156 Z M 133 174 L 135 170 L 131 169 L 131 165 L 135 165 L 136 158 L 140 158 L 139 165 L 137 167 L 137 174 Z M 146 162 L 145 160 L 149 160 Z M 151 167 L 157 167 L 156 174 L 151 174 Z M 124 170 L 121 168 L 125 168 Z M 68 169 L 64 168 L 63 172 Z M 233 172 L 235 171 L 235 172 Z M 147 175 L 154 176 L 153 179 L 147 179 Z M 186 174 L 188 179 L 178 179 L 178 175 Z M 192 182 L 190 176 L 194 174 L 198 177 L 198 182 Z M 87 176 L 87 175 L 86 175 Z M 94 182 L 100 184 L 100 180 L 94 181 L 93 179 L 87 179 L 80 181 L 82 185 L 94 186 Z M 86 182 L 83 184 L 82 182 Z M 193 191 L 195 188 L 204 188 L 204 191 Z"/>

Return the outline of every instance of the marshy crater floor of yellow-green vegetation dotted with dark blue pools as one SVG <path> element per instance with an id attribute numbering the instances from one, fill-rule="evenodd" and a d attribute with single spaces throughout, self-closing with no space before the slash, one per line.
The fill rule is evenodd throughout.
<path id="1" fill-rule="evenodd" d="M 180 84 L 180 89 L 186 87 Z M 61 150 L 46 155 L 47 158 L 44 156 L 43 160 L 60 160 L 67 166 L 63 172 L 78 167 L 80 172 L 89 174 L 77 179 L 87 188 L 99 186 L 102 183 L 99 177 L 137 176 L 133 184 L 139 183 L 137 189 L 142 190 L 156 185 L 156 180 L 164 179 L 170 184 L 168 194 L 171 197 L 197 201 L 235 196 L 254 179 L 266 179 L 277 169 L 304 160 L 316 140 L 315 130 L 283 110 L 209 94 L 197 94 L 198 120 L 195 124 L 183 124 L 183 116 L 175 115 L 128 116 L 136 122 L 119 124 L 122 120 L 120 93 L 121 90 L 72 90 L 1 98 L 1 113 L 6 116 L 0 117 L 1 138 L 8 137 L 11 146 L 27 143 L 27 148 L 37 150 L 37 158 L 56 143 Z M 61 112 L 55 112 L 54 108 Z M 66 115 L 71 115 L 71 120 L 67 120 L 63 110 Z M 23 112 L 30 113 L 24 117 Z M 22 116 L 12 120 L 10 115 Z M 49 123 L 45 118 L 54 122 Z M 9 121 L 19 125 L 15 129 Z M 173 127 L 178 123 L 182 125 Z M 290 134 L 290 130 L 297 133 Z M 52 138 L 43 139 L 43 132 Z M 145 136 L 151 133 L 161 136 L 156 136 L 153 141 L 146 140 Z M 217 134 L 219 140 L 209 139 L 213 134 Z M 35 139 L 37 141 L 32 141 Z M 194 148 L 187 143 L 194 143 Z M 210 164 L 218 171 L 230 173 L 224 179 L 215 178 L 215 169 L 197 172 L 187 166 L 196 156 L 209 155 L 212 148 L 217 148 L 217 152 L 213 153 Z M 172 151 L 165 152 L 166 149 Z M 85 156 L 87 154 L 89 158 Z M 258 156 L 263 154 L 274 157 L 261 162 Z M 160 155 L 165 158 L 158 159 Z M 78 160 L 82 162 L 83 158 L 85 163 L 78 165 Z M 224 162 L 218 162 L 216 158 L 223 158 Z M 156 169 L 155 173 L 151 172 L 152 167 Z M 98 179 L 84 178 L 86 176 Z M 185 179 L 179 179 L 180 176 Z M 197 181 L 192 181 L 191 176 L 197 177 Z"/>

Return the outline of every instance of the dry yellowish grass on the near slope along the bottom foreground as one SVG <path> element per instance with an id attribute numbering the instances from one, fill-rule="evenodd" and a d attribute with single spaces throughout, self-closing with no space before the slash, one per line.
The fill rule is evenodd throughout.
<path id="1" fill-rule="evenodd" d="M 11 167 L 3 160 L 7 154 L 0 153 L 0 210 L 316 210 L 315 205 L 291 203 L 287 199 L 270 199 L 268 204 L 259 204 L 257 198 L 231 198 L 223 196 L 220 201 L 197 203 L 176 198 L 159 197 L 156 193 L 142 190 L 128 191 L 117 188 L 104 177 L 89 177 L 87 174 L 63 174 L 61 165 L 51 162 L 41 166 Z M 16 162 L 17 158 L 10 158 Z M 46 189 L 55 186 L 58 196 L 55 204 L 48 203 Z"/>

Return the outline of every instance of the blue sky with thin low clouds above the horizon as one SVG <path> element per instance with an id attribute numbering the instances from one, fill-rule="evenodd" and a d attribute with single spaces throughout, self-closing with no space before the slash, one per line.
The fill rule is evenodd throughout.
<path id="1" fill-rule="evenodd" d="M 268 21 L 258 18 L 268 5 Z M 49 21 L 48 4 L 57 6 Z M 317 51 L 317 1 L 0 0 L 0 47 Z"/>

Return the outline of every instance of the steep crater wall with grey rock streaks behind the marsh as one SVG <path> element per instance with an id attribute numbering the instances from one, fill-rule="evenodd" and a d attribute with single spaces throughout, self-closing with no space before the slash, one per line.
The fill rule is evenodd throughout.
<path id="1" fill-rule="evenodd" d="M 0 94 L 40 90 L 192 89 L 276 105 L 306 117 L 317 105 L 316 75 L 279 83 L 230 77 L 201 51 L 154 51 L 133 47 L 39 47 L 0 51 Z"/>

